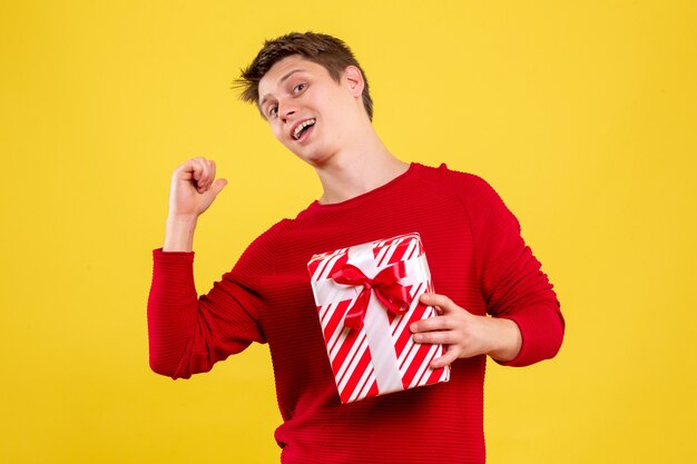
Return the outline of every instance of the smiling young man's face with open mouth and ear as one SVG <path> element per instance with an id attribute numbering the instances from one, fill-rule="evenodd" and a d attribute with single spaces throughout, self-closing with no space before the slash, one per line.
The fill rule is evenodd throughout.
<path id="1" fill-rule="evenodd" d="M 303 160 L 318 166 L 350 141 L 356 91 L 344 75 L 336 82 L 323 66 L 296 55 L 276 62 L 258 89 L 274 135 Z"/>

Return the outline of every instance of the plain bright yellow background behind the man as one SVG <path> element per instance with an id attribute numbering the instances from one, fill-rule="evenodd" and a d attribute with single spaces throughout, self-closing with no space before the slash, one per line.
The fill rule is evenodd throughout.
<path id="1" fill-rule="evenodd" d="M 184 159 L 230 181 L 202 293 L 320 195 L 229 89 L 291 30 L 346 40 L 392 151 L 487 178 L 556 284 L 559 356 L 489 364 L 489 462 L 697 462 L 696 8 L 567 3 L 3 2 L 0 462 L 277 462 L 266 347 L 173 382 L 145 306 Z"/>

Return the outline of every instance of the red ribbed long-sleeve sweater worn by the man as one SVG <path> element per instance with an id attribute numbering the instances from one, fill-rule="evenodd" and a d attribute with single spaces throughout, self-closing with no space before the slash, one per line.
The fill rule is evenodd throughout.
<path id="1" fill-rule="evenodd" d="M 155 250 L 151 368 L 188 378 L 252 342 L 268 343 L 283 463 L 483 463 L 485 356 L 455 361 L 445 384 L 345 405 L 338 399 L 307 261 L 412 231 L 421 235 L 436 293 L 518 324 L 522 347 L 504 364 L 556 355 L 565 327 L 559 303 L 516 217 L 479 177 L 412 164 L 372 191 L 334 205 L 315 201 L 276 224 L 200 298 L 194 254 Z"/>

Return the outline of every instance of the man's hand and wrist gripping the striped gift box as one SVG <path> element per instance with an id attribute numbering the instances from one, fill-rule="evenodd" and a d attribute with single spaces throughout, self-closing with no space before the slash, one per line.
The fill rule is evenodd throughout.
<path id="1" fill-rule="evenodd" d="M 432 368 L 482 354 L 507 362 L 520 352 L 522 337 L 513 320 L 477 316 L 443 295 L 423 294 L 420 302 L 435 306 L 439 315 L 410 326 L 414 342 L 445 346 L 445 354 L 431 362 Z"/>

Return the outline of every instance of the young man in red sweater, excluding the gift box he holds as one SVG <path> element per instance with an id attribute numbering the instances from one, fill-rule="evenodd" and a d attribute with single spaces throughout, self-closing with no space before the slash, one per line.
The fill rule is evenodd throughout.
<path id="1" fill-rule="evenodd" d="M 226 181 L 204 158 L 175 170 L 165 245 L 154 251 L 151 368 L 188 378 L 252 342 L 268 343 L 283 463 L 483 463 L 487 356 L 523 366 L 554 356 L 563 337 L 559 303 L 517 219 L 482 179 L 396 159 L 371 124 L 363 70 L 335 38 L 267 41 L 242 82 L 243 98 L 315 169 L 324 191 L 198 297 L 194 229 Z M 413 231 L 438 292 L 421 302 L 440 314 L 410 328 L 416 343 L 446 347 L 432 366 L 450 365 L 451 379 L 341 404 L 307 261 Z"/>

